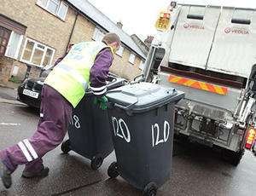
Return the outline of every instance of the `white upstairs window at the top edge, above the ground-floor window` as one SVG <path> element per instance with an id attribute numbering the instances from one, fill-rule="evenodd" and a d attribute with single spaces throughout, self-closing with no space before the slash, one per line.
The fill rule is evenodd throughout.
<path id="1" fill-rule="evenodd" d="M 38 5 L 65 20 L 68 6 L 61 0 L 38 0 Z"/>

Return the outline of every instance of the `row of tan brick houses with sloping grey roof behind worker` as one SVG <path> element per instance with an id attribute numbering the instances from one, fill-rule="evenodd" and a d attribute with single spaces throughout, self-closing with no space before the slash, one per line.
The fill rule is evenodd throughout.
<path id="1" fill-rule="evenodd" d="M 119 26 L 87 0 L 0 0 L 0 83 L 11 76 L 23 80 L 38 77 L 53 65 L 69 43 L 99 41 L 116 32 L 121 46 L 110 69 L 132 79 L 141 71 L 146 55 Z"/>

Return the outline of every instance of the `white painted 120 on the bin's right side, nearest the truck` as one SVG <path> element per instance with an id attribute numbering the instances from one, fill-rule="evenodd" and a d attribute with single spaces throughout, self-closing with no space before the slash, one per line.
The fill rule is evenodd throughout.
<path id="1" fill-rule="evenodd" d="M 156 130 L 156 140 L 154 139 L 154 130 Z M 160 140 L 160 128 L 159 124 L 152 125 L 152 147 L 159 145 L 160 143 L 166 142 L 170 135 L 170 124 L 165 121 L 164 123 L 164 138 Z"/>

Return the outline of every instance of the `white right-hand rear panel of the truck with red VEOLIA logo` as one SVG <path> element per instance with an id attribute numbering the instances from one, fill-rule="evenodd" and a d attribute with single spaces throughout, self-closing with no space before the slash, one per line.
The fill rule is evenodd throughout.
<path id="1" fill-rule="evenodd" d="M 256 12 L 224 7 L 207 70 L 249 77 L 256 61 Z"/>

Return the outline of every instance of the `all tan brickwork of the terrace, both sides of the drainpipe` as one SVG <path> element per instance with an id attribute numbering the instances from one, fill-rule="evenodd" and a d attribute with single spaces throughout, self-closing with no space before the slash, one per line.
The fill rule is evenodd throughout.
<path id="1" fill-rule="evenodd" d="M 42 9 L 37 5 L 37 0 L 0 0 L 0 13 L 9 17 L 20 24 L 27 26 L 26 34 L 21 43 L 20 52 L 17 60 L 4 57 L 4 72 L 0 70 L 0 76 L 4 81 L 7 81 L 11 76 L 13 66 L 19 67 L 19 73 L 16 78 L 22 80 L 26 74 L 26 63 L 20 61 L 20 56 L 24 49 L 26 37 L 43 43 L 52 49 L 55 49 L 55 55 L 52 61 L 54 62 L 65 53 L 67 49 L 68 40 L 72 32 L 73 23 L 76 18 L 77 11 L 69 7 L 65 21 L 57 18 L 48 11 Z M 11 5 L 11 6 L 10 6 Z M 76 25 L 73 30 L 73 37 L 70 43 L 79 43 L 85 41 L 92 41 L 92 36 L 96 25 L 83 15 L 79 14 Z M 131 51 L 127 48 L 124 50 L 122 57 L 115 55 L 111 72 L 119 77 L 132 79 L 139 74 L 140 58 L 136 56 L 135 64 L 129 62 Z M 9 63 L 9 65 L 7 65 Z M 3 67 L 3 66 L 2 66 Z M 3 70 L 3 69 L 2 69 Z M 30 74 L 31 77 L 38 77 L 40 68 L 33 66 Z M 4 77 L 3 77 L 4 76 Z M 1 81 L 0 81 L 1 82 Z"/>

